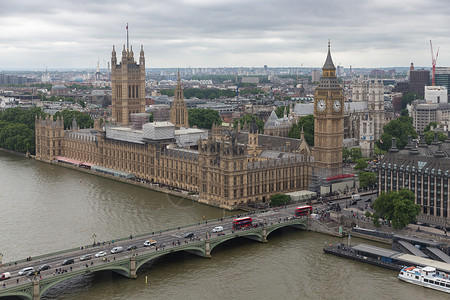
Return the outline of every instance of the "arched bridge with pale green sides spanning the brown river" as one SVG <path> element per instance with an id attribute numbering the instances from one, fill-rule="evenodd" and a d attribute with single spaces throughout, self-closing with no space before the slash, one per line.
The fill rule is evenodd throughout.
<path id="1" fill-rule="evenodd" d="M 85 274 L 110 270 L 127 278 L 137 278 L 137 271 L 147 262 L 158 257 L 186 251 L 201 257 L 211 257 L 211 251 L 218 245 L 236 238 L 248 238 L 258 242 L 267 242 L 270 233 L 284 227 L 308 229 L 308 218 L 294 217 L 294 206 L 284 207 L 281 210 L 265 211 L 249 214 L 253 219 L 253 227 L 233 230 L 232 218 L 215 221 L 203 221 L 194 225 L 175 229 L 157 231 L 138 236 L 130 236 L 118 240 L 96 243 L 77 249 L 45 254 L 30 259 L 5 263 L 0 273 L 9 272 L 11 278 L 0 282 L 0 298 L 16 296 L 22 299 L 39 300 L 51 287 L 73 277 Z M 222 226 L 223 231 L 212 233 L 216 226 Z M 193 233 L 193 237 L 185 238 L 186 233 Z M 156 241 L 152 247 L 144 247 L 146 240 Z M 111 253 L 113 247 L 122 246 L 121 253 Z M 134 246 L 132 250 L 127 250 Z M 103 257 L 95 254 L 105 251 Z M 80 257 L 90 254 L 92 259 L 81 261 Z M 62 266 L 65 259 L 73 259 L 74 263 Z M 34 273 L 31 276 L 19 276 L 19 270 L 26 267 L 37 269 L 48 264 L 50 269 Z"/>

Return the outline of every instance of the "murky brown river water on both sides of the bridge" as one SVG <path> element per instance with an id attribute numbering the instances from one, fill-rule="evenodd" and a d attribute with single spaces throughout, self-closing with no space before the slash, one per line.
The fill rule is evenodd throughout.
<path id="1" fill-rule="evenodd" d="M 94 234 L 97 241 L 110 240 L 223 214 L 190 200 L 0 152 L 4 262 L 89 244 Z M 171 254 L 142 267 L 135 280 L 109 271 L 73 278 L 43 299 L 446 297 L 400 282 L 395 271 L 324 254 L 324 245 L 345 242 L 335 237 L 283 229 L 268 239 L 230 241 L 214 248 L 211 259 Z M 357 242 L 368 243 L 352 239 Z"/>

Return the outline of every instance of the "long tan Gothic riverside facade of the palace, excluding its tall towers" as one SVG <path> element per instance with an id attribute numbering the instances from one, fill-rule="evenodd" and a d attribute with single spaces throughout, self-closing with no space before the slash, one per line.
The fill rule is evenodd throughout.
<path id="1" fill-rule="evenodd" d="M 36 158 L 49 162 L 62 156 L 130 172 L 150 182 L 199 193 L 200 202 L 226 209 L 308 188 L 314 161 L 309 149 L 264 151 L 254 144 L 257 133 L 245 143 L 239 143 L 238 136 L 242 138 L 238 133 L 211 136 L 200 140 L 198 149 L 185 149 L 174 146 L 174 139 L 111 139 L 97 120 L 92 129 L 64 130 L 62 120 L 36 119 Z M 250 138 L 253 144 L 248 147 Z"/>

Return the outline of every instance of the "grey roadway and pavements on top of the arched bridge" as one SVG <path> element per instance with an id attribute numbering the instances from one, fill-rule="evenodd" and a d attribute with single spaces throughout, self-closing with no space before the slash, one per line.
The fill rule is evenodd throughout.
<path id="1" fill-rule="evenodd" d="M 271 225 L 277 222 L 282 222 L 286 218 L 290 219 L 294 217 L 295 205 L 288 205 L 279 209 L 271 209 L 262 212 L 252 212 L 240 215 L 250 216 L 253 218 L 253 225 L 263 226 L 264 224 Z M 212 233 L 212 229 L 216 226 L 222 226 L 223 232 Z M 194 236 L 192 238 L 185 238 L 185 234 L 192 232 Z M 49 254 L 40 256 L 39 259 L 32 259 L 31 261 L 24 261 L 20 263 L 7 263 L 0 268 L 0 273 L 9 272 L 11 278 L 2 281 L 3 287 L 17 286 L 25 283 L 30 283 L 36 273 L 31 276 L 22 275 L 19 276 L 18 272 L 26 267 L 34 267 L 36 270 L 39 266 L 48 264 L 51 266 L 49 270 L 41 271 L 37 275 L 39 279 L 58 276 L 67 272 L 72 272 L 80 269 L 88 269 L 91 266 L 98 266 L 99 264 L 105 264 L 110 261 L 115 261 L 124 258 L 130 258 L 132 255 L 141 255 L 149 252 L 162 250 L 169 247 L 177 247 L 192 242 L 203 241 L 205 238 L 212 238 L 219 234 L 229 235 L 234 232 L 232 228 L 232 218 L 218 219 L 214 221 L 203 221 L 192 226 L 171 229 L 167 231 L 157 231 L 146 235 L 140 235 L 139 237 L 132 237 L 130 239 L 120 239 L 120 241 L 109 241 L 97 243 L 96 246 L 80 247 L 78 250 L 62 251 L 58 254 Z M 155 240 L 156 245 L 152 247 L 145 247 L 144 242 L 146 240 Z M 122 246 L 124 251 L 121 253 L 112 254 L 111 250 L 114 247 Z M 135 246 L 136 249 L 127 250 L 129 246 Z M 103 257 L 95 257 L 95 254 L 105 251 L 106 255 Z M 80 257 L 86 254 L 90 254 L 92 259 L 81 261 Z M 62 262 L 65 259 L 73 259 L 74 263 L 66 266 L 62 266 Z M 0 290 L 1 294 L 1 290 Z"/>

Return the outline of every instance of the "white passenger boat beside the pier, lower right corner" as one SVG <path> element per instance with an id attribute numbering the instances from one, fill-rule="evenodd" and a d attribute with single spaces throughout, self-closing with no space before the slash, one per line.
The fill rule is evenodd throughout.
<path id="1" fill-rule="evenodd" d="M 404 267 L 398 279 L 450 294 L 450 275 L 433 267 Z"/>

